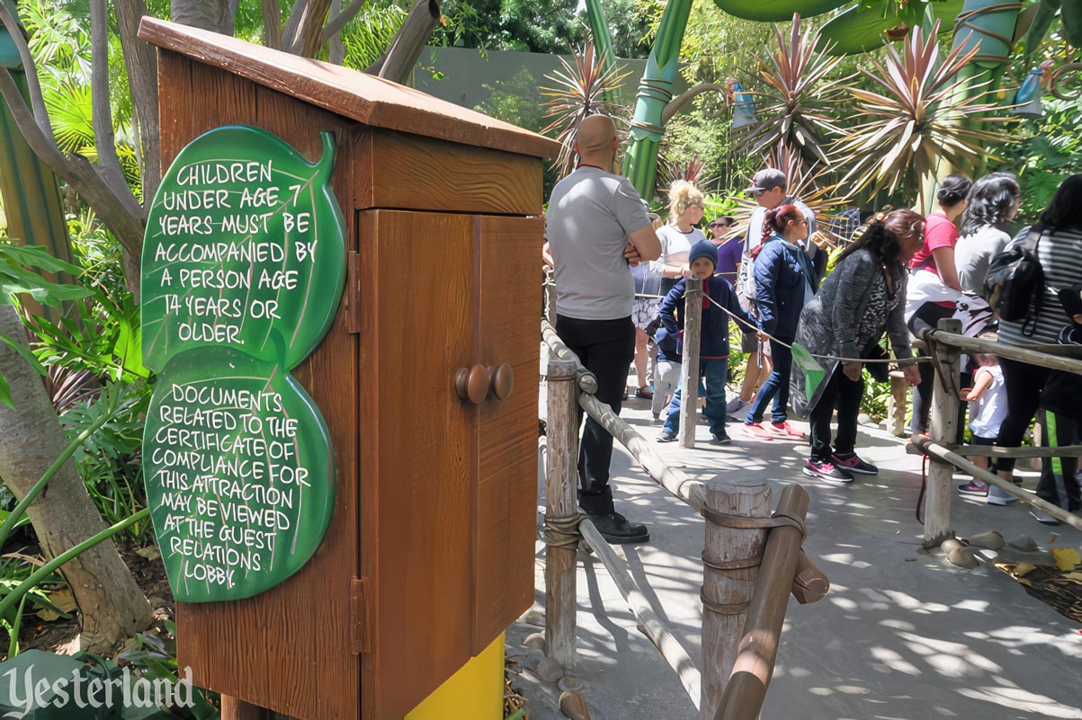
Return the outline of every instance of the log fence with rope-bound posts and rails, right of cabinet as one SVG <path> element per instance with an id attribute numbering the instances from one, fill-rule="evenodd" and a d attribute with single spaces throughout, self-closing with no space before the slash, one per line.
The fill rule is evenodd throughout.
<path id="1" fill-rule="evenodd" d="M 688 293 L 690 301 L 685 309 L 685 329 L 692 325 L 690 342 L 696 345 L 695 323 L 688 320 L 701 312 L 697 290 L 692 288 Z M 552 312 L 549 317 L 554 318 L 551 294 L 549 297 Z M 824 597 L 830 586 L 822 571 L 801 550 L 809 502 L 807 491 L 796 484 L 787 485 L 778 509 L 771 514 L 770 490 L 763 481 L 716 476 L 703 482 L 688 477 L 667 463 L 652 443 L 593 395 L 597 378 L 546 320 L 542 320 L 541 336 L 549 350 L 546 507 L 542 533 L 547 655 L 564 668 L 575 667 L 577 550 L 584 539 L 616 582 L 641 631 L 676 672 L 699 709 L 700 720 L 754 720 L 774 670 L 788 596 L 792 594 L 801 603 L 814 602 Z M 687 349 L 688 342 L 685 336 L 685 351 L 691 352 Z M 697 349 L 694 355 L 698 357 Z M 696 379 L 698 376 L 697 372 L 685 374 Z M 694 446 L 697 383 L 685 382 L 684 386 L 684 408 L 690 409 L 683 418 L 684 427 L 692 430 L 691 444 L 685 446 Z M 660 619 L 625 561 L 578 509 L 580 409 L 626 448 L 651 480 L 705 519 L 699 666 Z"/>

